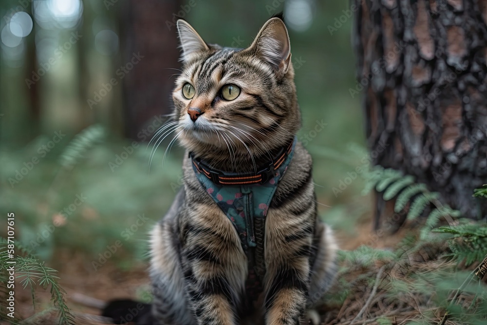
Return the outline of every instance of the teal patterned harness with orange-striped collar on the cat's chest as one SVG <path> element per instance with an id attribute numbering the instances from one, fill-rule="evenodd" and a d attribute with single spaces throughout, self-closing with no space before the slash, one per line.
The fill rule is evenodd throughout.
<path id="1" fill-rule="evenodd" d="M 296 138 L 277 157 L 255 174 L 222 172 L 191 155 L 193 169 L 208 195 L 226 214 L 237 231 L 249 261 L 247 290 L 258 293 L 265 264 L 264 224 L 267 210 L 294 154 Z M 260 278 L 260 282 L 256 278 Z"/>

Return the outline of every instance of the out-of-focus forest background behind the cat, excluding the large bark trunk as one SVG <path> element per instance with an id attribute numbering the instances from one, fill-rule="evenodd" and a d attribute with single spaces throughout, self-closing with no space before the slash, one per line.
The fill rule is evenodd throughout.
<path id="1" fill-rule="evenodd" d="M 1 216 L 15 212 L 18 244 L 59 270 L 69 304 L 77 293 L 108 300 L 147 288 L 148 231 L 181 186 L 182 149 L 163 161 L 166 139 L 149 172 L 147 148 L 171 109 L 176 15 L 209 43 L 245 47 L 284 13 L 319 212 L 342 247 L 369 240 L 356 233 L 358 219 L 372 229 L 372 204 L 355 173 L 370 160 L 360 96 L 349 91 L 349 9 L 345 0 L 0 2 Z M 17 299 L 20 315 L 33 313 L 30 290 Z"/>

